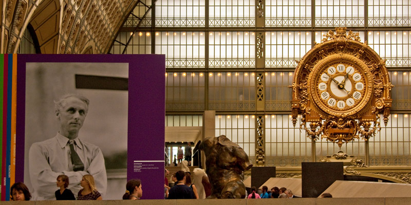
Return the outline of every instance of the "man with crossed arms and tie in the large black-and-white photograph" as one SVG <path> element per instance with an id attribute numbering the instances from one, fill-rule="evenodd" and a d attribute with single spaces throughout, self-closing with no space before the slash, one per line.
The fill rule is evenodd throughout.
<path id="1" fill-rule="evenodd" d="M 89 100 L 78 94 L 66 94 L 54 101 L 59 132 L 53 138 L 36 142 L 29 151 L 29 172 L 34 200 L 55 200 L 59 175 L 69 177 L 68 188 L 77 197 L 83 175 L 94 177 L 104 197 L 107 174 L 99 147 L 80 139 L 79 131 L 87 115 Z M 33 122 L 41 123 L 41 122 Z"/>

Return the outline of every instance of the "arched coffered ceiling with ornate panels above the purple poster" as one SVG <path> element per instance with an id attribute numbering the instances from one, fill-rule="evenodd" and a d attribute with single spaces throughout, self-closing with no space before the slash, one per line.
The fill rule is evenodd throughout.
<path id="1" fill-rule="evenodd" d="M 107 53 L 137 0 L 1 1 L 0 53 L 16 53 L 30 23 L 42 53 Z"/>

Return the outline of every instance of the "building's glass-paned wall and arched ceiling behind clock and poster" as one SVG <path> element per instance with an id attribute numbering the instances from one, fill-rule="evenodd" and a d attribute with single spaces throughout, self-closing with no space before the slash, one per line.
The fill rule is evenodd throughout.
<path id="1" fill-rule="evenodd" d="M 386 59 L 395 87 L 388 124 L 381 123 L 369 139 L 369 153 L 362 139 L 341 151 L 351 158 L 367 155 L 372 171 L 363 173 L 411 182 L 407 1 L 10 0 L 0 5 L 1 53 L 165 54 L 166 126 L 199 127 L 203 112 L 215 110 L 215 136 L 226 135 L 253 163 L 259 160 L 257 148 L 263 148 L 264 166 L 288 177 L 301 177 L 296 170 L 313 154 L 326 160 L 340 151 L 321 137 L 313 150 L 300 130 L 301 119 L 292 125 L 289 86 L 296 60 L 328 30 L 347 27 Z M 167 148 L 169 154 L 177 149 Z"/>

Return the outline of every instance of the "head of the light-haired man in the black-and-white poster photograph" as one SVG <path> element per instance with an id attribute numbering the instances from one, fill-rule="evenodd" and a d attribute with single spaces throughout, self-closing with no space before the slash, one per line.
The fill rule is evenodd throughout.
<path id="1" fill-rule="evenodd" d="M 78 136 L 88 111 L 89 100 L 79 94 L 66 94 L 54 101 L 55 116 L 60 122 L 59 133 L 69 139 Z"/>

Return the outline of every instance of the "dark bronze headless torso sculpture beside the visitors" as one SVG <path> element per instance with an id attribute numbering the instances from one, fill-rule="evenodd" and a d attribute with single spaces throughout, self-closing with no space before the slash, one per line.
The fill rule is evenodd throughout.
<path id="1" fill-rule="evenodd" d="M 207 198 L 245 198 L 241 174 L 253 166 L 246 152 L 225 135 L 208 137 L 199 148 L 206 154 L 206 172 L 211 182 L 212 193 Z"/>

